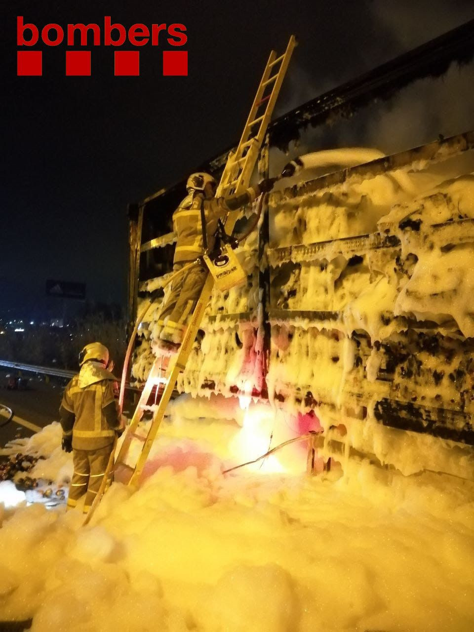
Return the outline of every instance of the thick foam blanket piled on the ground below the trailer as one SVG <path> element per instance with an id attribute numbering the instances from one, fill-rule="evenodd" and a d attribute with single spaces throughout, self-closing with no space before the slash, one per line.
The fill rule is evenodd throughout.
<path id="1" fill-rule="evenodd" d="M 269 432 L 268 413 L 248 410 Z M 473 483 L 355 461 L 338 480 L 223 476 L 248 411 L 185 397 L 171 412 L 147 480 L 135 493 L 113 483 L 92 525 L 64 507 L 4 512 L 1 620 L 33 617 L 32 632 L 471 631 Z M 60 435 L 53 424 L 28 444 L 49 451 L 58 482 L 71 462 Z M 287 450 L 301 466 L 293 444 L 280 467 Z"/>

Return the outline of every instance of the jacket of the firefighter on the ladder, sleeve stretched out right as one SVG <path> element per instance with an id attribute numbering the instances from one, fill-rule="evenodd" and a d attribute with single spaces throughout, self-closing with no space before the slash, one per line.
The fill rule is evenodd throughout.
<path id="1" fill-rule="evenodd" d="M 258 193 L 258 188 L 248 188 L 241 195 L 231 195 L 227 198 L 210 198 L 208 200 L 197 191 L 185 197 L 173 213 L 173 229 L 178 237 L 174 251 L 174 263 L 192 261 L 204 253 L 201 205 L 204 205 L 207 243 L 209 250 L 212 250 L 219 219 L 225 217 L 229 210 L 239 209 L 244 204 L 252 202 Z"/>

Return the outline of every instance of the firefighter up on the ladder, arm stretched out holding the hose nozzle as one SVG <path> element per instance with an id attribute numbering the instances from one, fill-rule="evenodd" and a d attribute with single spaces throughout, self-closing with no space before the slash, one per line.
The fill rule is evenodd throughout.
<path id="1" fill-rule="evenodd" d="M 229 210 L 239 209 L 252 202 L 260 193 L 272 190 L 274 181 L 273 178 L 265 179 L 257 186 L 249 187 L 241 195 L 216 198 L 217 183 L 209 173 L 191 174 L 186 183 L 188 195 L 173 213 L 173 228 L 178 238 L 173 273 L 183 269 L 204 253 L 201 207 L 204 209 L 208 250 L 211 251 L 219 219 L 223 219 Z M 158 321 L 162 329 L 157 336 L 157 344 L 162 351 L 173 353 L 183 341 L 188 319 L 204 288 L 206 277 L 205 265 L 195 265 L 187 274 L 179 275 L 171 284 L 169 296 Z"/>

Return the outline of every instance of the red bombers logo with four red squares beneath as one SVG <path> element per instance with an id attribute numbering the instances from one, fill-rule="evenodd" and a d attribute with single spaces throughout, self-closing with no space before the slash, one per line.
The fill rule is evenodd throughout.
<path id="1" fill-rule="evenodd" d="M 128 29 L 122 24 L 112 23 L 111 16 L 104 17 L 104 27 L 98 24 L 68 24 L 65 28 L 59 24 L 47 24 L 42 28 L 33 23 L 25 23 L 23 16 L 16 18 L 16 43 L 20 47 L 36 46 L 66 46 L 84 47 L 92 46 L 185 46 L 188 41 L 184 24 L 133 24 Z M 42 51 L 17 52 L 18 76 L 41 76 Z M 66 50 L 66 76 L 90 76 L 91 51 L 90 50 Z M 188 75 L 188 51 L 162 51 L 162 74 L 164 76 Z M 140 51 L 114 51 L 114 75 L 138 76 L 140 75 Z"/>

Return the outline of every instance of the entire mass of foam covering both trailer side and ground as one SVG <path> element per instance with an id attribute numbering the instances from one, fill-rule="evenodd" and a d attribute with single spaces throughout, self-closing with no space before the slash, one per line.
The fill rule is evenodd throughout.
<path id="1" fill-rule="evenodd" d="M 380 231 L 401 240 L 403 269 L 394 266 L 391 250 L 364 253 L 352 269 L 336 252 L 322 265 L 303 262 L 277 285 L 277 307 L 334 312 L 337 320 L 272 321 L 267 386 L 270 399 L 278 392 L 286 400 L 266 407 L 252 401 L 251 389 L 262 342 L 260 337 L 252 343 L 250 324 L 258 322 L 257 271 L 248 288 L 214 295 L 208 315 L 217 318 L 204 323 L 202 353 L 191 356 L 179 385 L 209 401 L 189 395 L 176 400 L 142 487 L 133 494 L 114 483 L 87 528 L 80 528 L 78 511 L 64 515 L 42 506 L 5 511 L 0 618 L 33 616 L 33 632 L 470 632 L 474 485 L 464 478 L 474 478 L 471 448 L 382 426 L 373 415 L 375 400 L 364 402 L 367 418 L 362 418 L 344 398 L 361 384 L 373 387 L 376 398 L 387 395 L 387 382 L 377 380 L 386 368 L 382 351 L 372 343 L 406 344 L 401 319 L 408 317 L 434 319 L 439 331 L 451 336 L 444 349 L 446 375 L 437 387 L 424 374 L 413 377 L 416 395 L 433 405 L 440 396 L 448 403 L 456 398 L 459 389 L 447 374 L 458 366 L 452 359 L 456 344 L 471 335 L 472 241 L 450 248 L 454 228 L 445 226 L 439 238 L 431 236 L 435 229 L 424 228 L 454 224 L 453 209 L 461 209 L 466 220 L 474 216 L 468 176 L 449 182 L 474 170 L 472 153 L 300 198 L 277 191 L 271 248 Z M 436 207 L 440 193 L 444 202 Z M 441 215 L 434 212 L 441 207 Z M 418 220 L 420 231 L 414 229 Z M 250 272 L 255 243 L 244 244 L 241 252 Z M 269 258 L 272 263 L 271 252 Z M 433 291 L 440 265 L 444 298 Z M 225 324 L 219 314 L 226 301 L 231 309 L 225 311 L 250 313 L 247 322 Z M 382 319 L 387 313 L 391 317 Z M 133 367 L 137 379 L 145 379 L 154 360 L 153 320 L 152 315 L 150 326 L 143 327 L 142 353 Z M 368 335 L 362 365 L 355 361 L 353 331 Z M 249 353 L 241 349 L 255 354 L 253 365 L 243 363 Z M 430 349 L 416 357 L 423 370 L 439 366 Z M 408 388 L 399 374 L 394 382 L 399 392 Z M 229 386 L 240 389 L 243 408 L 236 399 L 214 396 L 229 394 Z M 316 408 L 319 420 L 303 423 L 307 391 L 331 404 Z M 406 392 L 408 401 L 412 395 Z M 279 442 L 321 428 L 320 454 L 334 454 L 331 441 L 337 440 L 343 477 L 337 464 L 322 477 L 307 477 L 306 442 L 222 475 Z M 59 428 L 43 432 L 50 433 L 51 457 L 40 465 L 64 482 L 70 470 L 58 447 Z M 32 439 L 30 449 L 42 435 Z M 440 469 L 450 475 L 435 473 Z"/>

